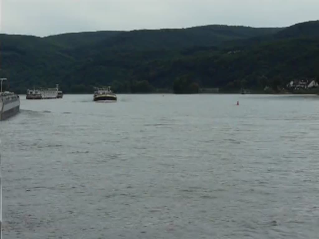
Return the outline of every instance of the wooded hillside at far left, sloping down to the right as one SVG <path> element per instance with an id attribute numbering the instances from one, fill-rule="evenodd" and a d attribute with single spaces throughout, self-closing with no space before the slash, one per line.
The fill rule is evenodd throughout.
<path id="1" fill-rule="evenodd" d="M 40 37 L 0 34 L 0 75 L 13 89 L 61 82 L 61 70 L 75 59 Z"/>

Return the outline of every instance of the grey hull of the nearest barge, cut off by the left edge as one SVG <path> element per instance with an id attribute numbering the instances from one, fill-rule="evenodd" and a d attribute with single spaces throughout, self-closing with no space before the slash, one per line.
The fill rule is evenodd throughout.
<path id="1" fill-rule="evenodd" d="M 1 89 L 2 91 L 2 89 Z M 20 98 L 9 91 L 0 91 L 0 120 L 6 120 L 20 112 Z"/>

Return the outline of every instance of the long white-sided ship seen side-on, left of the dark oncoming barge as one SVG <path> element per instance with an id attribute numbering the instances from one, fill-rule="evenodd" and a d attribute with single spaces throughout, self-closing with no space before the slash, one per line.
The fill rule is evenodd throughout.
<path id="1" fill-rule="evenodd" d="M 56 88 L 33 88 L 26 91 L 26 99 L 57 99 L 62 98 L 63 93 L 59 91 L 59 85 Z"/>

